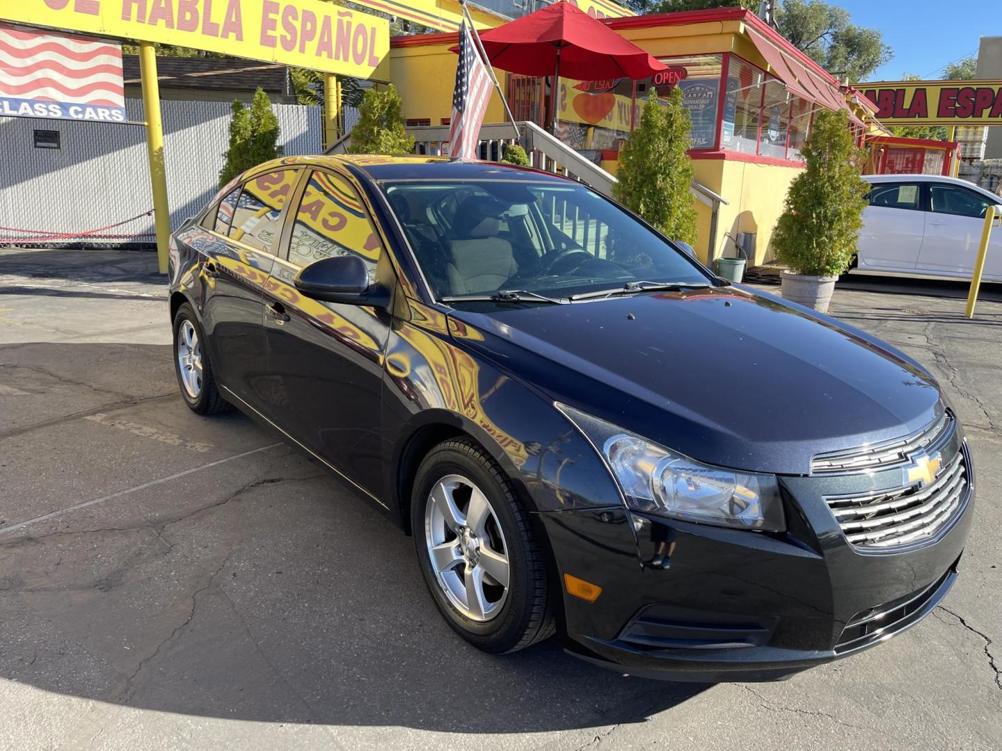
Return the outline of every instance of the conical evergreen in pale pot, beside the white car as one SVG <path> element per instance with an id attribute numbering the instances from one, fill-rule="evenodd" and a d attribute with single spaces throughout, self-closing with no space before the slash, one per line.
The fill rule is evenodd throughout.
<path id="1" fill-rule="evenodd" d="M 785 299 L 828 312 L 835 282 L 856 254 L 867 183 L 865 152 L 857 148 L 845 111 L 824 111 L 804 144 L 807 169 L 790 185 L 773 235 Z"/>

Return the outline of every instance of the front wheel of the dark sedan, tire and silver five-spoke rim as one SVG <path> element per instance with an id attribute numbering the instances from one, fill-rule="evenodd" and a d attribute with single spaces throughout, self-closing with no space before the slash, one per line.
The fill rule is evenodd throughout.
<path id="1" fill-rule="evenodd" d="M 470 439 L 439 444 L 411 500 L 425 583 L 450 626 L 492 654 L 524 649 L 554 629 L 546 558 L 504 471 Z"/>

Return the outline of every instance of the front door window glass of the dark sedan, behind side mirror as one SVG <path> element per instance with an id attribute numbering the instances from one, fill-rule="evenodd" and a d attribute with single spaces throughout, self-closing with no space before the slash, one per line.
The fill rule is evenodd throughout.
<path id="1" fill-rule="evenodd" d="M 376 279 L 381 245 L 362 201 L 348 181 L 315 171 L 303 193 L 289 242 L 289 262 L 306 266 L 332 255 L 358 255 Z"/>

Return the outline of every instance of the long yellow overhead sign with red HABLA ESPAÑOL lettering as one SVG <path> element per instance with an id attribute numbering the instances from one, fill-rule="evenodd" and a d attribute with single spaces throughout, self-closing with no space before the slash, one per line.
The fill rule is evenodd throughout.
<path id="1" fill-rule="evenodd" d="M 386 19 L 321 0 L 3 0 L 0 20 L 369 78 Z"/>

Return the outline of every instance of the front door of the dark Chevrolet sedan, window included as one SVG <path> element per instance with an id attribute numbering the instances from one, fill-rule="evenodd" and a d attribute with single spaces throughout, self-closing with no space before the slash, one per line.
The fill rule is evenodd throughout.
<path id="1" fill-rule="evenodd" d="M 362 258 L 392 290 L 393 265 L 351 179 L 314 170 L 288 219 L 266 291 L 270 419 L 293 439 L 382 496 L 380 408 L 390 313 L 322 302 L 295 287 L 301 268 L 332 255 Z"/>

